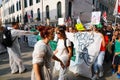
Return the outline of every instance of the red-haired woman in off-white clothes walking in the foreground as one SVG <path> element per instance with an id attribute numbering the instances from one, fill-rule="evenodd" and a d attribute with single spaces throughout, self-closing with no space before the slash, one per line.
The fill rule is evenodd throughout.
<path id="1" fill-rule="evenodd" d="M 60 62 L 62 68 L 64 64 L 60 59 L 53 55 L 52 49 L 49 45 L 50 40 L 54 38 L 54 29 L 51 27 L 38 27 L 41 40 L 39 40 L 33 50 L 32 54 L 32 74 L 31 80 L 53 80 L 52 79 L 52 59 Z"/>

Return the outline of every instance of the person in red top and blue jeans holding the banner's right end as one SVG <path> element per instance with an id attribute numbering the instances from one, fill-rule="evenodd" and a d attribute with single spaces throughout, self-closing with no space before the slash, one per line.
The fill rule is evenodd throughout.
<path id="1" fill-rule="evenodd" d="M 99 30 L 100 29 L 97 28 L 96 25 L 93 27 L 93 31 L 100 33 Z M 105 40 L 104 40 L 103 34 L 101 34 L 101 38 L 102 38 L 102 42 L 101 42 L 100 51 L 95 60 L 95 63 L 93 64 L 94 76 L 92 77 L 92 80 L 96 80 L 99 77 L 103 76 L 103 61 L 104 61 L 104 56 L 105 56 Z"/>

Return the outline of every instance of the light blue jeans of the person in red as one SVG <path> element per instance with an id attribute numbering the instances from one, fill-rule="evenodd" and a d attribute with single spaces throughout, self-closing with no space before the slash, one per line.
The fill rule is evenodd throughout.
<path id="1" fill-rule="evenodd" d="M 103 61 L 104 61 L 105 51 L 100 51 L 98 57 L 93 64 L 93 69 L 95 73 L 103 71 Z"/>

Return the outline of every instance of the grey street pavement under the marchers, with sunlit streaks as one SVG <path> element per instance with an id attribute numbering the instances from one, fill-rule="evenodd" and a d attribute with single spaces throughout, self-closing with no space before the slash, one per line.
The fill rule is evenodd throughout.
<path id="1" fill-rule="evenodd" d="M 9 58 L 7 53 L 0 54 L 0 80 L 30 80 L 32 69 L 32 51 L 33 48 L 27 46 L 26 43 L 21 45 L 22 59 L 27 68 L 27 72 L 22 74 L 11 74 L 9 67 Z M 99 80 L 118 80 L 116 74 L 112 75 L 110 64 L 104 64 L 104 77 Z M 58 74 L 54 74 L 54 80 L 57 80 Z M 82 76 L 75 76 L 72 72 L 68 72 L 68 80 L 90 80 Z"/>

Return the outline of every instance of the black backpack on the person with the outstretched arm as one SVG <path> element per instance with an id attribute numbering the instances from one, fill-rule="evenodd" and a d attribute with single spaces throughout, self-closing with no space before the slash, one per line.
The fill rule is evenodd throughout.
<path id="1" fill-rule="evenodd" d="M 2 41 L 1 41 L 2 45 L 5 47 L 12 47 L 12 44 L 15 41 L 15 39 L 12 40 L 11 30 L 5 28 L 2 33 Z"/>

